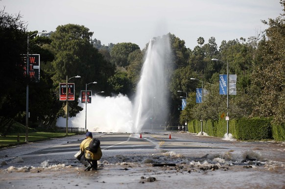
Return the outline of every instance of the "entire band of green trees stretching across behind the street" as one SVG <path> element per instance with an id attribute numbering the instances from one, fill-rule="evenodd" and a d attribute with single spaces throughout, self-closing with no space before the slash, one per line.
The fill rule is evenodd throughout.
<path id="1" fill-rule="evenodd" d="M 268 28 L 256 36 L 222 41 L 220 46 L 211 37 L 201 36 L 193 49 L 174 34 L 163 37 L 170 40 L 172 68 L 167 75 L 169 93 L 169 125 L 183 124 L 191 119 L 219 119 L 227 111 L 226 96 L 219 95 L 219 74 L 237 74 L 237 95 L 229 97 L 231 118 L 272 118 L 275 124 L 285 123 L 285 0 L 280 1 L 283 13 L 275 19 L 261 21 Z M 15 122 L 25 123 L 25 86 L 29 82 L 23 69 L 17 66 L 21 55 L 27 52 L 27 36 L 38 31 L 27 31 L 22 15 L 9 15 L 0 10 L 0 133 L 5 135 Z M 65 103 L 59 101 L 59 83 L 66 77 L 80 75 L 72 80 L 76 97 L 85 84 L 104 95 L 126 94 L 132 97 L 140 78 L 144 53 L 147 48 L 133 43 L 101 45 L 92 39 L 93 32 L 83 25 L 59 25 L 49 35 L 29 38 L 29 53 L 41 55 L 39 83 L 29 83 L 29 126 L 52 129 L 56 120 L 65 116 Z M 212 61 L 212 59 L 221 61 Z M 201 86 L 209 92 L 203 103 L 195 103 L 195 89 Z M 181 111 L 181 93 L 188 94 L 187 107 Z M 71 101 L 70 117 L 82 108 Z M 155 115 L 153 118 L 155 121 Z M 157 120 L 158 121 L 158 120 Z"/>

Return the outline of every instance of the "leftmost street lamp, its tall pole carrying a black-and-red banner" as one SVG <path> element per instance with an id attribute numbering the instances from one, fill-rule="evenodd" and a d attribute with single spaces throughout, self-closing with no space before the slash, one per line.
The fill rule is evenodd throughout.
<path id="1" fill-rule="evenodd" d="M 32 35 L 27 36 L 27 56 L 26 56 L 26 76 L 29 77 L 29 38 L 37 35 L 39 33 L 42 34 L 50 34 L 50 32 L 37 32 L 33 33 Z M 25 136 L 25 142 L 28 142 L 28 127 L 29 127 L 29 82 L 27 81 L 27 87 L 26 87 L 26 136 Z"/>

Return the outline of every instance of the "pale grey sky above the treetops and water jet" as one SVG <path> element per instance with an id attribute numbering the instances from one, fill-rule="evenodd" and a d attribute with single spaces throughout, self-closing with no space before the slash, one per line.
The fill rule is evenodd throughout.
<path id="1" fill-rule="evenodd" d="M 267 26 L 261 20 L 282 13 L 280 0 L 0 0 L 9 14 L 21 13 L 28 31 L 55 31 L 79 24 L 101 44 L 131 42 L 145 47 L 170 32 L 193 49 L 197 39 L 208 43 L 256 36 Z"/>

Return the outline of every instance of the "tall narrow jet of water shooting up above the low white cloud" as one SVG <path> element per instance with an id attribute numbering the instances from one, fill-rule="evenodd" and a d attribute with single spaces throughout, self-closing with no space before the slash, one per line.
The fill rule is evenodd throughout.
<path id="1" fill-rule="evenodd" d="M 149 41 L 133 108 L 135 132 L 166 124 L 170 57 L 168 35 Z"/>

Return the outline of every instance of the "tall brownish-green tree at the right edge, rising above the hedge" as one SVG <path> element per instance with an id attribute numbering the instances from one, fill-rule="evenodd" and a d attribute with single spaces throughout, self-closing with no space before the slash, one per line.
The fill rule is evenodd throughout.
<path id="1" fill-rule="evenodd" d="M 285 123 L 285 0 L 280 1 L 283 13 L 276 19 L 262 21 L 268 25 L 266 38 L 260 43 L 261 65 L 254 69 L 252 80 L 258 87 L 255 116 L 273 117 Z"/>

